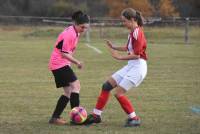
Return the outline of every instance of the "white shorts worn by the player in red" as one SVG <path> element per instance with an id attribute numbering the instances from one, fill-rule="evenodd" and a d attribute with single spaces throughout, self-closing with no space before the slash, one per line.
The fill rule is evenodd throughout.
<path id="1" fill-rule="evenodd" d="M 129 90 L 137 87 L 144 80 L 147 74 L 147 63 L 143 59 L 131 60 L 128 65 L 112 75 L 117 85 Z"/>

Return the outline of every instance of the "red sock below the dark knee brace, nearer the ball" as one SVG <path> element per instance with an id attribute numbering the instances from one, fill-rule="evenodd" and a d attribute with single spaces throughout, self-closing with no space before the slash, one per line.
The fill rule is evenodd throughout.
<path id="1" fill-rule="evenodd" d="M 101 94 L 98 97 L 95 108 L 98 110 L 102 110 L 108 101 L 109 95 L 110 95 L 109 91 L 102 90 Z"/>

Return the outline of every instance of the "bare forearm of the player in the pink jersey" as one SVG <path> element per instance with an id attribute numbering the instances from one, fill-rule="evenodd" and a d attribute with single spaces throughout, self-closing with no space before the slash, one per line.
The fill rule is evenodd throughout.
<path id="1" fill-rule="evenodd" d="M 65 52 L 61 52 L 61 55 L 62 55 L 63 58 L 66 58 L 69 61 L 71 61 L 72 63 L 74 63 L 75 65 L 77 65 L 77 67 L 79 69 L 81 69 L 83 67 L 83 63 L 81 63 L 79 60 L 74 58 L 71 54 L 65 53 Z"/>

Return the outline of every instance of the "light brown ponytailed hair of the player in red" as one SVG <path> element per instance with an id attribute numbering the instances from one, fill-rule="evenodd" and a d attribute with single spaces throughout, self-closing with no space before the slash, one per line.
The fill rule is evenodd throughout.
<path id="1" fill-rule="evenodd" d="M 132 18 L 134 18 L 134 20 L 137 21 L 140 27 L 143 26 L 143 19 L 142 19 L 141 13 L 139 11 L 136 11 L 133 8 L 124 9 L 121 15 L 124 16 L 128 20 L 131 20 Z"/>

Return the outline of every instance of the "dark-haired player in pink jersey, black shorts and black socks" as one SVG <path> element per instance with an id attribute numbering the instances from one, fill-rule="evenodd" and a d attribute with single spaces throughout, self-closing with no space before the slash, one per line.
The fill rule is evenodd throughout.
<path id="1" fill-rule="evenodd" d="M 77 11 L 72 15 L 72 20 L 74 25 L 64 29 L 58 36 L 49 61 L 49 69 L 54 75 L 56 87 L 64 89 L 64 94 L 58 99 L 49 120 L 50 124 L 66 124 L 60 115 L 69 101 L 71 108 L 79 106 L 80 82 L 70 66 L 73 63 L 79 69 L 83 67 L 82 62 L 73 57 L 73 53 L 76 50 L 80 33 L 89 26 L 89 17 L 81 11 Z"/>

